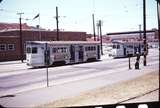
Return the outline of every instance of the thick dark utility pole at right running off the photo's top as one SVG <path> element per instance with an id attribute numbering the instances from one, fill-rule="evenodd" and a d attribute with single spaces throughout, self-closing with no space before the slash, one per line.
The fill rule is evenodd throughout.
<path id="1" fill-rule="evenodd" d="M 146 40 L 146 0 L 143 0 L 143 44 L 144 44 L 144 60 L 143 65 L 147 65 L 147 40 Z"/>

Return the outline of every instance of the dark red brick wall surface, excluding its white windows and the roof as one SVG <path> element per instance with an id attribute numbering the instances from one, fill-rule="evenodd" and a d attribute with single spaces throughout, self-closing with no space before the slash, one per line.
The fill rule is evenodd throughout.
<path id="1" fill-rule="evenodd" d="M 22 32 L 23 45 L 25 41 L 40 40 L 41 33 L 42 41 L 54 41 L 57 38 L 56 31 L 29 31 Z M 63 41 L 86 41 L 86 32 L 60 32 L 59 40 Z M 0 51 L 0 61 L 18 60 L 20 59 L 20 43 L 19 30 L 0 32 L 1 44 L 15 44 L 14 51 Z M 25 55 L 24 55 L 25 58 Z"/>

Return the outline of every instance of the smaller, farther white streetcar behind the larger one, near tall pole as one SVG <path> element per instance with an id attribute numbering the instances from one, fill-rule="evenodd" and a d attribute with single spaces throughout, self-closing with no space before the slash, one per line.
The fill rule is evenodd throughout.
<path id="1" fill-rule="evenodd" d="M 143 55 L 144 53 L 144 44 L 142 41 L 114 41 L 112 44 L 111 56 L 114 58 L 128 57 L 128 55 L 135 56 L 137 52 L 140 55 Z"/>

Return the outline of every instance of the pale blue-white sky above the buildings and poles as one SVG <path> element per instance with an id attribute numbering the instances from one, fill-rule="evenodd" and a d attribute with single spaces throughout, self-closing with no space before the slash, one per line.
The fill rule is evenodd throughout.
<path id="1" fill-rule="evenodd" d="M 0 3 L 0 22 L 19 23 L 18 12 L 23 12 L 22 23 L 56 29 L 56 6 L 59 28 L 64 31 L 83 31 L 93 34 L 95 23 L 102 20 L 102 34 L 143 29 L 143 0 L 3 0 Z M 40 13 L 39 18 L 33 18 Z M 30 20 L 25 20 L 30 19 Z M 157 28 L 155 0 L 146 0 L 146 28 Z M 97 28 L 96 28 L 97 31 Z"/>

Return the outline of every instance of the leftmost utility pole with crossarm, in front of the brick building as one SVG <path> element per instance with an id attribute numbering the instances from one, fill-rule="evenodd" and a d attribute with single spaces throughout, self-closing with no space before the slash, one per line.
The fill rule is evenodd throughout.
<path id="1" fill-rule="evenodd" d="M 19 29 L 20 29 L 20 32 L 19 32 L 19 43 L 20 43 L 20 58 L 21 58 L 21 62 L 23 63 L 23 42 L 22 42 L 22 23 L 21 23 L 21 20 L 22 20 L 22 14 L 24 13 L 17 13 L 17 15 L 19 15 Z"/>

